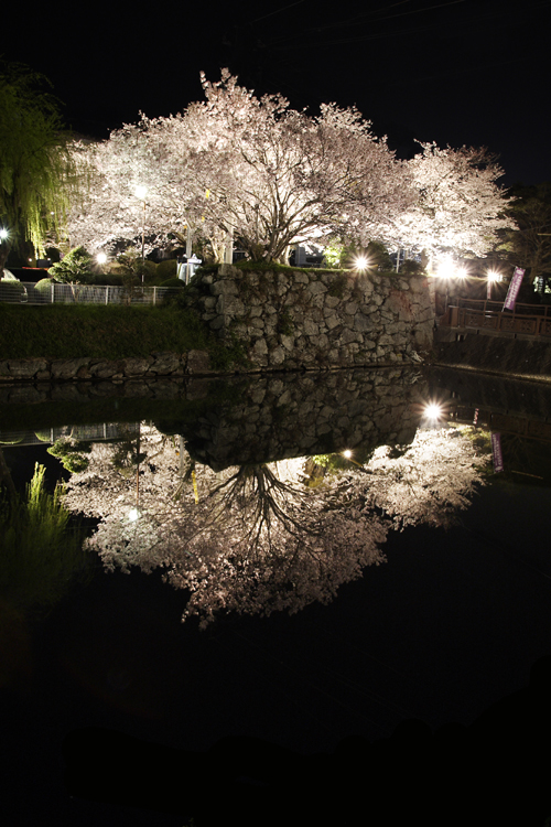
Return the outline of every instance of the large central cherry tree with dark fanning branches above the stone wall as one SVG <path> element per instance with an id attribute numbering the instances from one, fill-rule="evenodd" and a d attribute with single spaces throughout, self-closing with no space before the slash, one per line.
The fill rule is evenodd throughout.
<path id="1" fill-rule="evenodd" d="M 410 203 L 403 164 L 356 109 L 311 117 L 279 95 L 256 98 L 227 71 L 202 83 L 206 101 L 184 117 L 198 194 L 252 259 L 287 260 L 290 245 L 335 233 L 380 237 Z"/>

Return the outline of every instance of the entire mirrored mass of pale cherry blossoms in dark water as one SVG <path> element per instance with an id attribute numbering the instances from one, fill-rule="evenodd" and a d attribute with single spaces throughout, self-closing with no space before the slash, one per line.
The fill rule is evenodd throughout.
<path id="1" fill-rule="evenodd" d="M 487 460 L 467 430 L 420 430 L 410 445 L 376 449 L 364 464 L 329 462 L 322 484 L 309 487 L 309 458 L 215 473 L 184 457 L 183 440 L 179 451 L 142 427 L 138 519 L 129 519 L 132 484 L 109 459 L 114 445 L 94 447 L 65 502 L 101 517 L 88 548 L 107 569 L 162 568 L 185 589 L 183 620 L 198 615 L 205 626 L 220 611 L 293 613 L 329 602 L 385 561 L 389 528 L 447 527 L 467 507 Z"/>

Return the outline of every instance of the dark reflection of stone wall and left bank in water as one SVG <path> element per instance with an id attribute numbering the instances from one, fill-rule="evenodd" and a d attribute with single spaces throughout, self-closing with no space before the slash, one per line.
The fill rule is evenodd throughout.
<path id="1" fill-rule="evenodd" d="M 417 402 L 426 398 L 426 380 L 411 366 L 217 379 L 137 377 L 118 384 L 37 383 L 0 386 L 0 426 L 13 429 L 17 422 L 20 428 L 24 419 L 26 428 L 36 430 L 44 422 L 104 421 L 95 417 L 105 417 L 108 402 L 110 421 L 123 412 L 132 421 L 159 422 L 170 433 L 183 433 L 194 459 L 222 470 L 408 443 L 419 421 Z"/>

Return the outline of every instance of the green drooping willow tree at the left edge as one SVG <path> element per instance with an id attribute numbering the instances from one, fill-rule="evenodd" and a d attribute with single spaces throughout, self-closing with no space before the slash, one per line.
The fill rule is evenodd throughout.
<path id="1" fill-rule="evenodd" d="M 60 103 L 48 80 L 23 64 L 0 65 L 0 278 L 12 247 L 44 253 L 75 183 Z"/>

